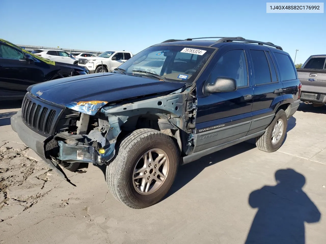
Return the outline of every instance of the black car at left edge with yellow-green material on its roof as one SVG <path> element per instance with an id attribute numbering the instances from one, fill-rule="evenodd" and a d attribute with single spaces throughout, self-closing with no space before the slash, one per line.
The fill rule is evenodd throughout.
<path id="1" fill-rule="evenodd" d="M 85 74 L 83 67 L 44 59 L 0 39 L 0 100 L 23 99 L 31 85 Z"/>

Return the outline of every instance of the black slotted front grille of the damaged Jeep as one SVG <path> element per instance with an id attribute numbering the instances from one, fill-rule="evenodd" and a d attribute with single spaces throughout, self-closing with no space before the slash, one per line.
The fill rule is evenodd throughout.
<path id="1" fill-rule="evenodd" d="M 63 108 L 26 94 L 22 102 L 22 120 L 35 132 L 47 136 L 54 132 Z"/>

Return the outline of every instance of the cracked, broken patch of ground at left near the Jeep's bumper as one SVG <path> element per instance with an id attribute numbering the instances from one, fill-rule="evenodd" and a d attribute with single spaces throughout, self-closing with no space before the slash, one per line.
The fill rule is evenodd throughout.
<path id="1" fill-rule="evenodd" d="M 51 169 L 18 142 L 0 142 L 0 222 L 31 208 L 53 187 Z"/>

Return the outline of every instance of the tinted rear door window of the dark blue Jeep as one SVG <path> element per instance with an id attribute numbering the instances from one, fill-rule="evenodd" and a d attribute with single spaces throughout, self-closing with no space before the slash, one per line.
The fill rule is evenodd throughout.
<path id="1" fill-rule="evenodd" d="M 265 51 L 250 50 L 250 54 L 254 66 L 255 84 L 258 85 L 272 82 L 271 71 Z"/>

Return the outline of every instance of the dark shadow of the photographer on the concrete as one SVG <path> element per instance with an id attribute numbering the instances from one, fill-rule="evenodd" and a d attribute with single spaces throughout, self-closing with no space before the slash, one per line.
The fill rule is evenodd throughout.
<path id="1" fill-rule="evenodd" d="M 320 220 L 320 212 L 302 187 L 305 177 L 293 169 L 275 172 L 274 186 L 263 186 L 249 196 L 252 208 L 258 208 L 246 244 L 305 243 L 304 222 Z"/>

